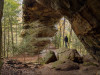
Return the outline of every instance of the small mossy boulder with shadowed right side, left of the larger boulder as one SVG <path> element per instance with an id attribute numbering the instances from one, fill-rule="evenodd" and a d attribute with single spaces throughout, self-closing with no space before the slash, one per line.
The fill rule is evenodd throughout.
<path id="1" fill-rule="evenodd" d="M 55 62 L 55 61 L 57 61 L 57 58 L 53 51 L 49 51 L 44 57 L 45 64 Z"/>

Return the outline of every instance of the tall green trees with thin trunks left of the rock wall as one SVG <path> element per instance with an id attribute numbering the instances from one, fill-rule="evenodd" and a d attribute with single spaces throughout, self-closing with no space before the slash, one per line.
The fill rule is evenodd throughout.
<path id="1" fill-rule="evenodd" d="M 5 44 L 3 44 L 3 47 L 6 48 L 6 51 L 8 51 L 8 54 L 10 55 L 12 55 L 11 53 L 13 52 L 17 52 L 17 45 L 15 44 L 15 38 L 17 37 L 15 35 L 17 35 L 16 32 L 19 32 L 17 25 L 19 24 L 19 16 L 21 16 L 20 9 L 21 5 L 19 3 L 19 0 L 4 0 L 2 31 L 4 33 L 3 37 L 5 37 L 3 39 L 3 43 Z"/>

